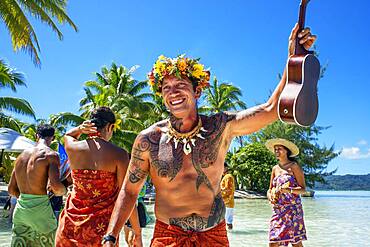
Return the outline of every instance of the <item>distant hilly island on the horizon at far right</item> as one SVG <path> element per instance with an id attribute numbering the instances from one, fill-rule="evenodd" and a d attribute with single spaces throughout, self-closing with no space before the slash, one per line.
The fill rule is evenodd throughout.
<path id="1" fill-rule="evenodd" d="M 316 183 L 314 190 L 370 190 L 370 173 L 367 175 L 331 175 L 327 184 Z"/>

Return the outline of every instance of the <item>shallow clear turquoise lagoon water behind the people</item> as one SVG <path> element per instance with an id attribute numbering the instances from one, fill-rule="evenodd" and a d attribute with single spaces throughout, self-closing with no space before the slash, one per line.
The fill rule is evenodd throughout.
<path id="1" fill-rule="evenodd" d="M 308 237 L 304 246 L 370 246 L 370 191 L 317 191 L 314 198 L 303 198 L 303 209 Z M 148 211 L 153 213 L 153 205 Z M 268 246 L 270 216 L 266 200 L 236 200 L 230 245 Z M 153 227 L 143 229 L 144 246 L 149 246 Z M 10 230 L 1 217 L 0 246 L 9 246 Z M 126 245 L 121 242 L 120 246 Z"/>

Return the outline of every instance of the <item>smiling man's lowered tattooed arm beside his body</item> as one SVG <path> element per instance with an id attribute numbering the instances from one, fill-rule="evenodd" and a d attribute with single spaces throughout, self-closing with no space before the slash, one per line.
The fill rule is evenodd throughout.
<path id="1" fill-rule="evenodd" d="M 130 165 L 123 181 L 110 218 L 107 234 L 118 237 L 123 225 L 131 215 L 137 196 L 149 173 L 150 142 L 145 135 L 140 134 L 133 145 Z M 112 246 L 106 242 L 104 246 Z"/>

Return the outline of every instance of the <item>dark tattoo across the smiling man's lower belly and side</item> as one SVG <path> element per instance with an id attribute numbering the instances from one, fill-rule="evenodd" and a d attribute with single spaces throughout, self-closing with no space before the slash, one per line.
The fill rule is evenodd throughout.
<path id="1" fill-rule="evenodd" d="M 186 217 L 170 218 L 170 225 L 179 226 L 185 231 L 202 231 L 209 227 L 218 225 L 225 218 L 225 204 L 219 193 L 212 204 L 208 217 L 191 214 Z"/>

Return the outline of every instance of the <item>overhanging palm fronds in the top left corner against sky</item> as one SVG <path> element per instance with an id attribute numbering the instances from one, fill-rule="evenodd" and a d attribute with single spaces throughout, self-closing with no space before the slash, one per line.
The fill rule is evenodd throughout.
<path id="1" fill-rule="evenodd" d="M 63 34 L 55 24 L 67 23 L 75 31 L 76 25 L 66 13 L 67 0 L 1 0 L 0 19 L 4 22 L 12 39 L 15 51 L 22 49 L 28 52 L 36 65 L 40 65 L 40 45 L 33 29 L 29 16 L 46 23 L 58 36 Z"/>

